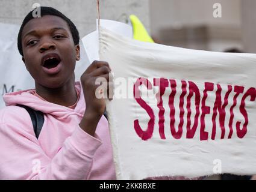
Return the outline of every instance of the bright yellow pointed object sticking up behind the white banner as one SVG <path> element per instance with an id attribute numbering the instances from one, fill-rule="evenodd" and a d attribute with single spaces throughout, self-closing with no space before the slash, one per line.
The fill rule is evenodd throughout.
<path id="1" fill-rule="evenodd" d="M 132 14 L 130 16 L 131 25 L 133 25 L 133 38 L 135 40 L 154 43 L 154 40 L 149 36 L 145 26 L 140 22 L 139 18 Z"/>

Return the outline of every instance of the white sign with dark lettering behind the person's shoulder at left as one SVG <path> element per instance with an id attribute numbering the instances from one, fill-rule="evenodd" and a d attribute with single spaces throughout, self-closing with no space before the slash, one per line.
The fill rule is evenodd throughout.
<path id="1" fill-rule="evenodd" d="M 33 88 L 34 82 L 17 50 L 18 25 L 0 23 L 0 108 L 4 107 L 2 95 L 6 92 Z"/>

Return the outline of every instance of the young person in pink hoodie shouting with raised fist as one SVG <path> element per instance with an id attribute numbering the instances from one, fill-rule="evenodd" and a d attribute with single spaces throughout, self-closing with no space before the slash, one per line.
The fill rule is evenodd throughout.
<path id="1" fill-rule="evenodd" d="M 73 22 L 51 7 L 23 20 L 18 49 L 35 89 L 4 95 L 0 110 L 0 179 L 115 179 L 105 102 L 95 96 L 107 62 L 95 61 L 75 82 L 80 59 Z M 27 110 L 43 113 L 38 139 Z"/>

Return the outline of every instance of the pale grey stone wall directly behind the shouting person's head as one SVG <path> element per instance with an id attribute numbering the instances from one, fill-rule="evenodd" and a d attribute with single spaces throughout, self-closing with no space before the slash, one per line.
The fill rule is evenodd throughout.
<path id="1" fill-rule="evenodd" d="M 96 0 L 0 0 L 0 22 L 21 24 L 32 10 L 32 5 L 54 7 L 69 17 L 84 37 L 96 29 Z M 124 20 L 125 15 L 136 14 L 149 29 L 148 0 L 100 0 L 101 18 Z"/>

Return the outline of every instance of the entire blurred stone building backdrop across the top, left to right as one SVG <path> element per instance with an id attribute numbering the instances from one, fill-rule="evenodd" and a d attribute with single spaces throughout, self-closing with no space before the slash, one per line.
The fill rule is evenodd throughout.
<path id="1" fill-rule="evenodd" d="M 162 44 L 223 51 L 237 47 L 256 53 L 255 0 L 101 0 L 101 18 L 124 21 L 136 14 Z M 34 3 L 52 6 L 70 17 L 81 37 L 95 30 L 95 0 L 0 0 L 0 22 L 20 24 Z M 222 17 L 213 17 L 213 5 Z"/>

